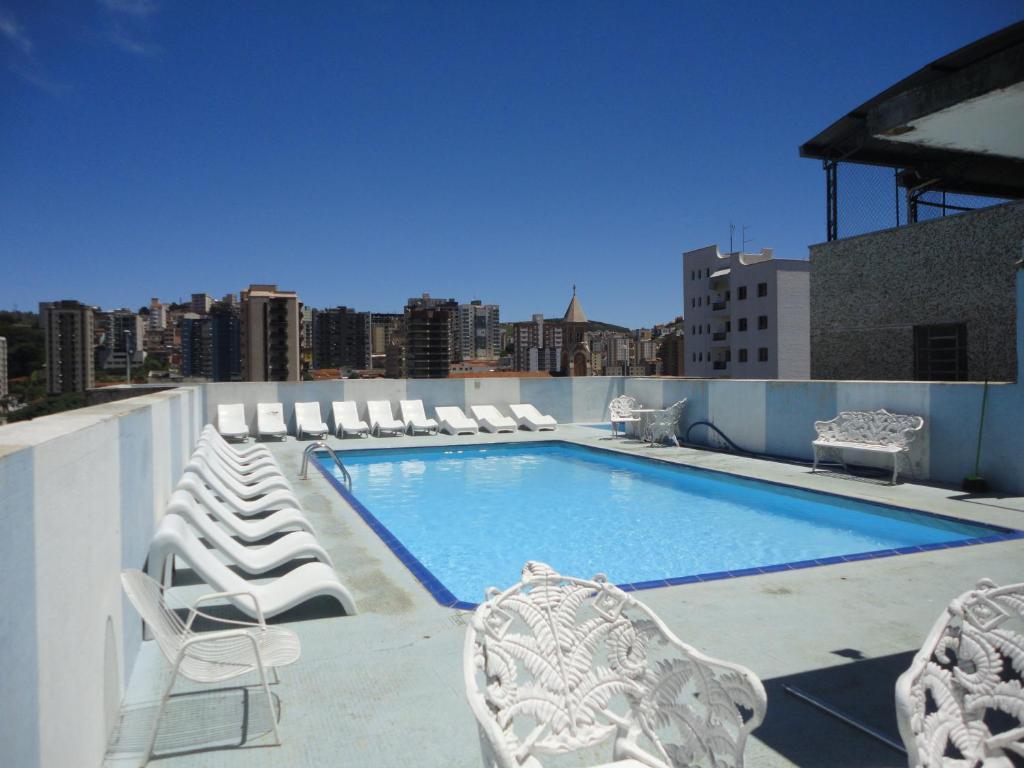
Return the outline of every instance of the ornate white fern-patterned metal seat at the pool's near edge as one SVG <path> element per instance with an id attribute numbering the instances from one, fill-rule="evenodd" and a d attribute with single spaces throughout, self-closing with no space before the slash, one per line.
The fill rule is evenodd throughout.
<path id="1" fill-rule="evenodd" d="M 680 642 L 632 593 L 539 562 L 487 591 L 463 662 L 487 768 L 608 740 L 614 765 L 740 768 L 767 708 L 752 672 Z"/>

